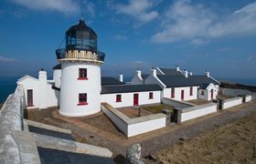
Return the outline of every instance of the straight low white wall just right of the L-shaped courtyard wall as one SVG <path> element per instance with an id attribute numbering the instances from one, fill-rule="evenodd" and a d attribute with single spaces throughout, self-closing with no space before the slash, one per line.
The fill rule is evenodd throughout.
<path id="1" fill-rule="evenodd" d="M 217 112 L 217 104 L 215 103 L 208 103 L 201 106 L 184 108 L 181 111 L 181 122 L 205 116 L 214 112 Z"/>

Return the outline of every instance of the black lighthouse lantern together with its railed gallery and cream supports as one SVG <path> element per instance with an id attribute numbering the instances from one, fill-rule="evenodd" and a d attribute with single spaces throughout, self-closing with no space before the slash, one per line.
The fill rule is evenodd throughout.
<path id="1" fill-rule="evenodd" d="M 98 50 L 97 34 L 81 18 L 78 25 L 66 31 L 66 47 L 56 50 L 59 61 L 103 63 L 105 54 Z"/>

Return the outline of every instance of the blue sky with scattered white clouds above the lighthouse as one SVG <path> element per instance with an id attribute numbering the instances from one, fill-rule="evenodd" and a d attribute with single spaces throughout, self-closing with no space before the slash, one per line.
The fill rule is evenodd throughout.
<path id="1" fill-rule="evenodd" d="M 37 76 L 40 68 L 51 76 L 55 50 L 81 16 L 106 54 L 102 76 L 178 66 L 256 79 L 252 0 L 1 0 L 0 77 Z"/>

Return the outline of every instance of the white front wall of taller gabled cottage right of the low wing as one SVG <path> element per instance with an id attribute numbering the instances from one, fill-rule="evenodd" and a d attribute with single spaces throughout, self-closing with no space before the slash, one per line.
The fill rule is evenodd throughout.
<path id="1" fill-rule="evenodd" d="M 184 90 L 184 100 L 197 99 L 197 87 L 193 87 L 193 95 L 190 96 L 190 87 L 175 87 L 175 97 L 171 97 L 171 88 L 164 89 L 164 97 L 181 100 L 181 90 Z"/>

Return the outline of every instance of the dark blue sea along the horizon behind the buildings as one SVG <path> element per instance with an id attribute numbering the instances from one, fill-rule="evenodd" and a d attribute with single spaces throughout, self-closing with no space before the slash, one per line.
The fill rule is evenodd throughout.
<path id="1" fill-rule="evenodd" d="M 16 89 L 16 81 L 20 77 L 0 77 L 0 103 L 4 102 L 5 99 Z M 125 82 L 131 81 L 132 77 L 124 77 Z M 256 79 L 244 79 L 244 78 L 217 78 L 218 80 L 227 80 L 230 82 L 255 86 Z"/>

